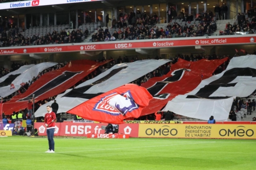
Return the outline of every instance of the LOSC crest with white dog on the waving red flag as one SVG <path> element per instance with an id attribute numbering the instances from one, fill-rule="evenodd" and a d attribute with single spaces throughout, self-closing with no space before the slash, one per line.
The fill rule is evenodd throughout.
<path id="1" fill-rule="evenodd" d="M 122 94 L 112 93 L 104 96 L 96 103 L 93 110 L 118 116 L 120 113 L 125 115 L 127 112 L 132 112 L 138 108 L 139 106 L 134 102 L 129 90 Z"/>

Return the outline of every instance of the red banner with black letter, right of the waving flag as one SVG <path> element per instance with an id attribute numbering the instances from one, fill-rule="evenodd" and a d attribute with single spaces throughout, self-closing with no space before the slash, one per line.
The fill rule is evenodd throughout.
<path id="1" fill-rule="evenodd" d="M 178 94 L 186 94 L 194 90 L 202 80 L 211 77 L 216 68 L 225 61 L 227 58 L 210 61 L 202 59 L 196 62 L 179 59 L 177 63 L 172 65 L 168 74 L 152 78 L 142 85 L 154 98 L 142 110 L 141 115 L 155 113 Z"/>

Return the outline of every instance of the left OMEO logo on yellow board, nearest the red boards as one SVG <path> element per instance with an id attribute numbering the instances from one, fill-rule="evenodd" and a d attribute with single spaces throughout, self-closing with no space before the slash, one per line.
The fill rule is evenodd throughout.
<path id="1" fill-rule="evenodd" d="M 160 129 L 151 129 L 148 128 L 145 130 L 145 134 L 147 136 L 176 136 L 178 133 L 177 129 L 171 129 L 169 126 L 165 125 L 162 126 Z"/>

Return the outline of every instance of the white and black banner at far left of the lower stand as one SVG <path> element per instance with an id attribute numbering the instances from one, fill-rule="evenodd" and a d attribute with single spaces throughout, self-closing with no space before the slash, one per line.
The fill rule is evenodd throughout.
<path id="1" fill-rule="evenodd" d="M 33 77 L 37 77 L 39 72 L 52 67 L 58 63 L 54 62 L 45 62 L 40 64 L 31 64 L 31 65 L 24 65 L 20 67 L 18 70 L 10 72 L 10 75 L 17 75 L 20 74 L 18 77 L 16 77 L 10 84 L 14 85 L 14 89 L 10 89 L 10 84 L 8 86 L 0 88 L 0 96 L 6 97 L 15 91 L 17 91 L 22 83 L 26 83 L 28 81 L 31 81 Z M 8 74 L 9 75 L 9 74 Z M 8 76 L 6 75 L 6 76 Z M 9 77 L 9 76 L 8 76 Z"/>

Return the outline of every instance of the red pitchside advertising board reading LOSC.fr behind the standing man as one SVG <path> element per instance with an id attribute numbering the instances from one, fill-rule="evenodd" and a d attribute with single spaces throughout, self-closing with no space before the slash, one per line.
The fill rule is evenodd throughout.
<path id="1" fill-rule="evenodd" d="M 55 123 L 55 136 L 86 136 L 88 134 L 103 134 L 105 131 L 101 126 L 108 124 L 94 124 L 94 123 Z M 38 129 L 39 136 L 46 136 L 46 126 L 44 123 L 35 123 L 35 128 Z M 119 125 L 119 132 L 121 134 L 129 135 L 130 137 L 138 137 L 139 124 L 121 124 Z"/>

